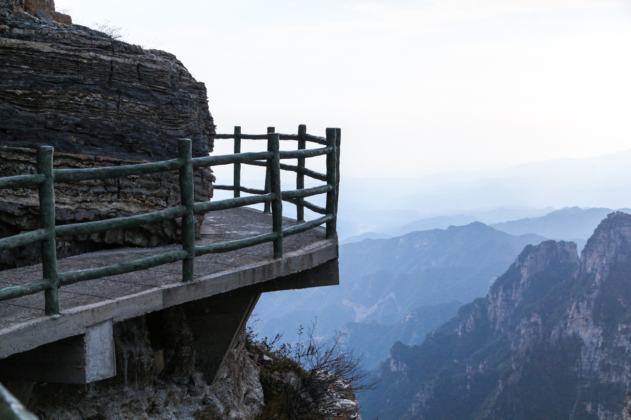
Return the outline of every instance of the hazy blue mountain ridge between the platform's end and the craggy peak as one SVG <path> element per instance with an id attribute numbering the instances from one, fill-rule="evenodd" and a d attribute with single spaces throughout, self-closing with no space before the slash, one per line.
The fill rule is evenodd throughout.
<path id="1" fill-rule="evenodd" d="M 309 325 L 316 316 L 322 335 L 341 329 L 348 322 L 374 322 L 377 328 L 375 323 L 396 330 L 410 311 L 425 310 L 427 314 L 427 308 L 422 308 L 425 305 L 468 302 L 484 296 L 524 246 L 545 240 L 532 234 L 510 235 L 474 222 L 342 245 L 340 285 L 264 293 L 255 310 L 262 321 L 259 334 L 274 336 L 284 332 L 286 341 L 291 342 L 298 327 Z M 418 327 L 412 328 L 415 339 L 406 341 L 420 342 L 425 332 L 440 325 L 449 314 L 441 316 L 431 318 L 429 324 L 417 323 Z M 391 341 L 364 343 L 355 339 L 357 334 L 370 336 L 374 332 L 364 326 L 347 328 L 354 331 L 350 339 L 357 351 L 369 352 L 375 361 L 387 355 Z M 401 331 L 392 332 L 390 337 L 405 339 L 408 332 Z M 414 331 L 408 336 L 412 337 Z"/>

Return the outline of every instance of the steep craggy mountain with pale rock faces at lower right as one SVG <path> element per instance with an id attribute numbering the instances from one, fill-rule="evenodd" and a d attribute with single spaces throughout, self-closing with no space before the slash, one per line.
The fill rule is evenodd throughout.
<path id="1" fill-rule="evenodd" d="M 581 259 L 527 246 L 420 346 L 397 343 L 365 414 L 381 419 L 623 419 L 631 382 L 631 215 L 611 213 Z"/>

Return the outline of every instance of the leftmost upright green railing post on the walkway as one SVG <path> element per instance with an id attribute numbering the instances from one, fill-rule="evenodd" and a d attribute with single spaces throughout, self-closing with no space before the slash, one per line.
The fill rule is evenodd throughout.
<path id="1" fill-rule="evenodd" d="M 55 241 L 55 186 L 52 169 L 54 149 L 51 146 L 37 148 L 37 173 L 46 180 L 39 186 L 40 225 L 46 230 L 42 246 L 42 277 L 52 283 L 44 292 L 44 312 L 59 315 L 59 276 L 57 275 L 57 244 Z"/>

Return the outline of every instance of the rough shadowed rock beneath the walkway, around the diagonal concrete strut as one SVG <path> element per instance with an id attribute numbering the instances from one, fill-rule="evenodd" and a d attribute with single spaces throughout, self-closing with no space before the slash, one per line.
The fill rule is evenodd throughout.
<path id="1" fill-rule="evenodd" d="M 243 338 L 213 383 L 194 368 L 191 329 L 177 307 L 115 324 L 114 343 L 114 378 L 37 383 L 28 408 L 44 420 L 254 420 L 261 413 L 260 368 Z"/>

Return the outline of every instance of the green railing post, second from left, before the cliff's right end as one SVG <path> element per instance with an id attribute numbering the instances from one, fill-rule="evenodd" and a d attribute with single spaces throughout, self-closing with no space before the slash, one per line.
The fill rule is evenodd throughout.
<path id="1" fill-rule="evenodd" d="M 182 160 L 182 166 L 180 167 L 180 200 L 187 210 L 186 214 L 182 216 L 182 249 L 189 254 L 182 260 L 182 281 L 192 281 L 195 259 L 195 219 L 193 217 L 191 140 L 177 140 L 177 149 Z"/>

